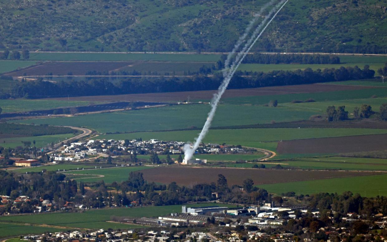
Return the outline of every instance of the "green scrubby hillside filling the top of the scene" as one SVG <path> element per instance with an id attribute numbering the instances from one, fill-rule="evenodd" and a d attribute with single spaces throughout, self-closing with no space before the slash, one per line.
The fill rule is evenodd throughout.
<path id="1" fill-rule="evenodd" d="M 10 0 L 0 3 L 0 49 L 229 51 L 265 2 Z M 386 7 L 380 0 L 292 0 L 256 48 L 385 52 Z"/>

